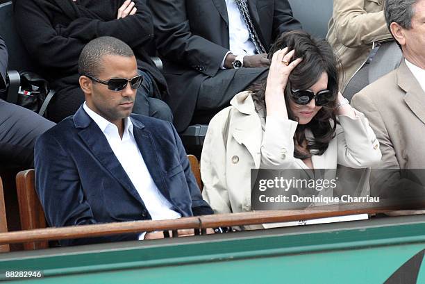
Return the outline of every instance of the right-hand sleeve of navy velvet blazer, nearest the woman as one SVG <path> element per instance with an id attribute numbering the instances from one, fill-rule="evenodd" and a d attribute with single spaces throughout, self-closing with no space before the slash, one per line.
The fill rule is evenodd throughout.
<path id="1" fill-rule="evenodd" d="M 183 147 L 183 143 L 178 136 L 176 128 L 174 128 L 172 124 L 170 124 L 170 126 L 173 129 L 174 139 L 178 149 L 178 156 L 180 158 L 183 171 L 185 172 L 186 181 L 188 182 L 190 197 L 192 198 L 192 213 L 194 216 L 214 214 L 213 209 L 211 209 L 210 205 L 202 198 L 201 190 L 199 190 L 197 180 L 192 173 L 192 169 L 190 169 L 188 156 L 185 148 Z"/>

